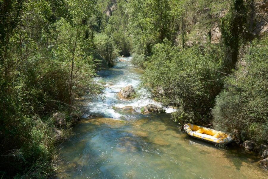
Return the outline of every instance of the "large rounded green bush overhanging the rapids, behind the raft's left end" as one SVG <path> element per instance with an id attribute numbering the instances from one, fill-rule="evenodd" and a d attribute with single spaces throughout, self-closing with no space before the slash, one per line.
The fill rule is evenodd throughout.
<path id="1" fill-rule="evenodd" d="M 151 98 L 178 108 L 173 119 L 180 124 L 210 122 L 210 108 L 222 88 L 222 81 L 215 80 L 220 78 L 220 73 L 211 70 L 220 67 L 222 55 L 218 49 L 208 44 L 205 48 L 180 50 L 166 42 L 157 44 L 145 63 L 143 86 Z"/>

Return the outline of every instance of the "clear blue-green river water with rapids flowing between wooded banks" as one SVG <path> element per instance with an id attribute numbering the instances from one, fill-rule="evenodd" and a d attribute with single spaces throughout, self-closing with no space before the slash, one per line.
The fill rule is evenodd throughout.
<path id="1" fill-rule="evenodd" d="M 135 111 L 156 102 L 118 99 L 122 87 L 138 87 L 142 74 L 131 57 L 123 59 L 95 78 L 106 85 L 105 99 L 85 104 L 85 118 L 74 126 L 74 137 L 61 145 L 58 178 L 267 178 L 259 158 L 181 132 L 169 121 L 174 109 L 142 115 Z"/>

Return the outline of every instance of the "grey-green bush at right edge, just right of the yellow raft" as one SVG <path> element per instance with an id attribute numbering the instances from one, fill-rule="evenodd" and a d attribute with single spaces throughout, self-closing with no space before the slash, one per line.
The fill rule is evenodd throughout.
<path id="1" fill-rule="evenodd" d="M 242 141 L 268 143 L 268 38 L 253 41 L 216 98 L 214 126 Z"/>

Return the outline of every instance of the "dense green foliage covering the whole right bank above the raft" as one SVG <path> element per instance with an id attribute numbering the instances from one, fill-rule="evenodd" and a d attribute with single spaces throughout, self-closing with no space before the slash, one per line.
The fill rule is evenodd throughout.
<path id="1" fill-rule="evenodd" d="M 133 64 L 174 121 L 267 143 L 267 13 L 262 1 L 132 0 Z M 258 29 L 258 30 L 257 30 Z M 258 39 L 258 40 L 253 40 Z"/>

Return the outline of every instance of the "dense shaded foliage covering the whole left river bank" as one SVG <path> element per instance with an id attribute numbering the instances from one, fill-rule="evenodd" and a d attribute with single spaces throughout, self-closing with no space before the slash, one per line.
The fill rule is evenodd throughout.
<path id="1" fill-rule="evenodd" d="M 53 112 L 68 135 L 75 98 L 101 92 L 92 81 L 87 36 L 96 1 L 0 1 L 0 175 L 45 178 L 57 156 Z"/>

